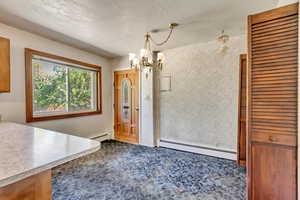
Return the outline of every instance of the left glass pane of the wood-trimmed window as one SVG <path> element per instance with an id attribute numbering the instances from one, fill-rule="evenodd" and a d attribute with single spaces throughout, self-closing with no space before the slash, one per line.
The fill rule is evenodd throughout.
<path id="1" fill-rule="evenodd" d="M 33 111 L 66 111 L 66 67 L 32 60 Z"/>

